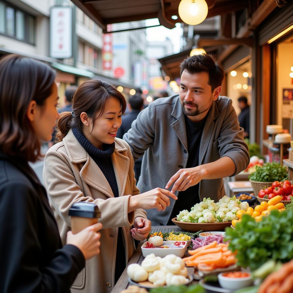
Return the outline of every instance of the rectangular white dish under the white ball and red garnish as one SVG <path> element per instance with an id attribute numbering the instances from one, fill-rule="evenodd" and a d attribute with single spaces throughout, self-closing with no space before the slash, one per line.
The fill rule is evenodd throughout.
<path id="1" fill-rule="evenodd" d="M 174 245 L 174 242 L 177 241 L 163 241 L 162 246 Z M 181 244 L 178 248 L 145 248 L 147 246 L 147 241 L 142 244 L 142 255 L 146 257 L 147 255 L 154 253 L 156 256 L 165 257 L 168 254 L 175 254 L 179 257 L 183 257 L 186 251 L 186 245 Z"/>

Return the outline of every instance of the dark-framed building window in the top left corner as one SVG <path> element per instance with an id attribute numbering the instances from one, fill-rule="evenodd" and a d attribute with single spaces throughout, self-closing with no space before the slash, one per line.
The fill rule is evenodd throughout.
<path id="1" fill-rule="evenodd" d="M 35 44 L 35 17 L 0 0 L 0 34 Z"/>

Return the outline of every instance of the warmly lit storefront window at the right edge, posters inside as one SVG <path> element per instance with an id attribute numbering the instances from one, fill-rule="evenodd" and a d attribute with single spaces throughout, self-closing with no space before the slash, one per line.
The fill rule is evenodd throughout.
<path id="1" fill-rule="evenodd" d="M 277 45 L 277 124 L 290 131 L 293 119 L 293 36 Z"/>

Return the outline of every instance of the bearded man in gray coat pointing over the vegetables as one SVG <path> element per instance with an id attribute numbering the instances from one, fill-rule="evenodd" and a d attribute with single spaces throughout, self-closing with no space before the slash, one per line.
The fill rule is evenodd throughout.
<path id="1" fill-rule="evenodd" d="M 180 75 L 179 95 L 150 103 L 123 136 L 134 161 L 144 155 L 140 192 L 160 187 L 178 196 L 165 211 L 147 212 L 153 225 L 172 224 L 180 210 L 190 210 L 204 197 L 219 200 L 222 178 L 249 163 L 232 100 L 219 96 L 222 65 L 211 55 L 195 55 L 180 64 Z"/>

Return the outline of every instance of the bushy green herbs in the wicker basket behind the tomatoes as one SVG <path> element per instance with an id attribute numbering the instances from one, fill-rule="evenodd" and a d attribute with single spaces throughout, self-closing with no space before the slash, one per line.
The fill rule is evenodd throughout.
<path id="1" fill-rule="evenodd" d="M 256 171 L 248 178 L 259 182 L 282 181 L 288 178 L 287 167 L 279 163 L 265 163 L 263 166 L 256 166 Z"/>

